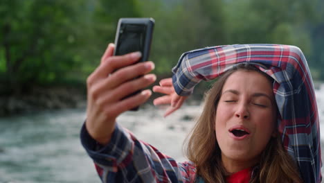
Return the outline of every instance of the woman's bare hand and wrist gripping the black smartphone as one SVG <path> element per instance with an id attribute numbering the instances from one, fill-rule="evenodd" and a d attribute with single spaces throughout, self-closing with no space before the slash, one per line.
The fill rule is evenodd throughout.
<path id="1" fill-rule="evenodd" d="M 129 98 L 125 97 L 156 80 L 156 76 L 149 73 L 154 69 L 153 62 L 136 63 L 141 53 L 113 54 L 114 44 L 109 44 L 100 65 L 87 79 L 86 128 L 91 137 L 102 145 L 109 143 L 117 116 L 145 103 L 152 92 L 146 89 Z"/>

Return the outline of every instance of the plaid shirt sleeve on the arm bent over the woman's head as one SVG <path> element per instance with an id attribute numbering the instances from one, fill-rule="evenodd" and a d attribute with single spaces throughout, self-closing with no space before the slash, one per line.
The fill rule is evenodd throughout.
<path id="1" fill-rule="evenodd" d="M 241 63 L 254 64 L 275 80 L 273 93 L 280 116 L 278 131 L 305 182 L 321 182 L 321 139 L 314 84 L 303 52 L 296 46 L 235 44 L 181 55 L 172 82 L 188 96 L 201 80 L 213 80 Z"/>

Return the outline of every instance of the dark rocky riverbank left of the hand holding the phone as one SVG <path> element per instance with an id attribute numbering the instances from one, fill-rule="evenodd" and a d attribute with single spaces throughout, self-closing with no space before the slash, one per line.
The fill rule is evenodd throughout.
<path id="1" fill-rule="evenodd" d="M 35 86 L 21 94 L 0 96 L 0 116 L 85 107 L 87 92 L 78 87 Z"/>

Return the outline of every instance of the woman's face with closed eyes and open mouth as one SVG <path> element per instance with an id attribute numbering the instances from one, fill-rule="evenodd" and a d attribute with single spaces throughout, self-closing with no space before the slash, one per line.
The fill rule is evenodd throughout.
<path id="1" fill-rule="evenodd" d="M 274 134 L 276 103 L 271 82 L 257 71 L 235 71 L 222 89 L 215 120 L 216 138 L 227 171 L 251 167 Z M 231 168 L 232 167 L 232 168 Z M 237 167 L 237 171 L 241 168 Z"/>

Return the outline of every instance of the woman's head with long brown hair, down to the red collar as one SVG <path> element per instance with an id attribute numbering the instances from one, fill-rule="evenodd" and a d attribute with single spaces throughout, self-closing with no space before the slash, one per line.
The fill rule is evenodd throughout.
<path id="1" fill-rule="evenodd" d="M 272 83 L 251 64 L 239 64 L 210 89 L 187 150 L 205 182 L 301 182 L 276 130 Z"/>

